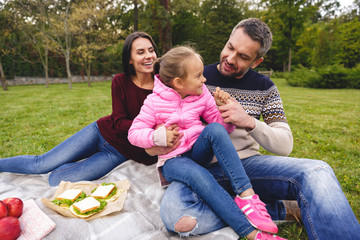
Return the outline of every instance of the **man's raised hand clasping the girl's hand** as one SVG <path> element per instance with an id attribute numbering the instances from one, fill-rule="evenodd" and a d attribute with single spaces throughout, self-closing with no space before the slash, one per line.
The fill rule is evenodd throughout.
<path id="1" fill-rule="evenodd" d="M 239 128 L 246 131 L 251 131 L 255 128 L 255 119 L 248 115 L 244 108 L 234 98 L 230 98 L 228 104 L 220 106 L 219 111 L 221 117 L 226 123 L 232 123 Z"/>

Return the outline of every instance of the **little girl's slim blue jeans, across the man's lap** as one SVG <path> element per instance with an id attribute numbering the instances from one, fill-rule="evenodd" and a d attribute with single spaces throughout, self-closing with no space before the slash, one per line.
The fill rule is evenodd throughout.
<path id="1" fill-rule="evenodd" d="M 240 194 L 252 187 L 229 134 L 219 123 L 207 125 L 190 151 L 167 160 L 162 174 L 168 182 L 178 181 L 189 186 L 235 232 L 243 234 L 252 228 L 250 223 L 227 192 L 229 189 L 218 184 L 207 169 L 214 154 L 230 179 L 233 192 Z"/>

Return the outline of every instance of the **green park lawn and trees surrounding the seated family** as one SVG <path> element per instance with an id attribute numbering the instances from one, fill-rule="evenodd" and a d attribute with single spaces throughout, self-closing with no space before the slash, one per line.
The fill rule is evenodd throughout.
<path id="1" fill-rule="evenodd" d="M 291 156 L 329 163 L 360 219 L 359 16 L 359 0 L 2 0 L 3 89 L 19 76 L 67 84 L 0 91 L 0 158 L 44 153 L 110 114 L 106 80 L 122 72 L 121 49 L 134 30 L 151 34 L 161 53 L 192 45 L 208 64 L 238 21 L 258 17 L 274 41 L 256 70 L 273 71 L 294 135 Z M 283 226 L 280 236 L 307 239 L 301 223 Z"/>

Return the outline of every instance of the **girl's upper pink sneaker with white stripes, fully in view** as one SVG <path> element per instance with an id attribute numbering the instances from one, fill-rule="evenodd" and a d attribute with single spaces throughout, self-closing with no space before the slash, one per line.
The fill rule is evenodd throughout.
<path id="1" fill-rule="evenodd" d="M 251 199 L 236 197 L 235 202 L 255 228 L 269 233 L 278 232 L 276 224 L 271 220 L 265 208 L 265 203 L 260 200 L 257 194 L 253 195 Z"/>

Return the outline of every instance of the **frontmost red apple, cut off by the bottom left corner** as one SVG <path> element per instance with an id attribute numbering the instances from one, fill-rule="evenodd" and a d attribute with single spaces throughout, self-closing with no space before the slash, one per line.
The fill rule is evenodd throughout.
<path id="1" fill-rule="evenodd" d="M 0 219 L 0 239 L 14 240 L 20 236 L 20 221 L 16 217 L 4 217 Z"/>

